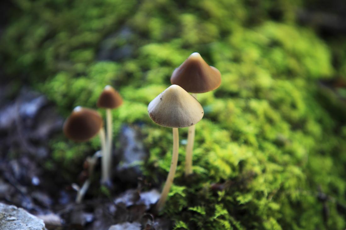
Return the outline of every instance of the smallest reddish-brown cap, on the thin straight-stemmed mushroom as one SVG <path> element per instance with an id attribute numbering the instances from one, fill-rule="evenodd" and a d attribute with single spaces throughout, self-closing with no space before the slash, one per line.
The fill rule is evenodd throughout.
<path id="1" fill-rule="evenodd" d="M 99 100 L 97 101 L 97 107 L 105 109 L 115 109 L 122 104 L 122 98 L 120 94 L 111 86 L 104 87 Z"/>

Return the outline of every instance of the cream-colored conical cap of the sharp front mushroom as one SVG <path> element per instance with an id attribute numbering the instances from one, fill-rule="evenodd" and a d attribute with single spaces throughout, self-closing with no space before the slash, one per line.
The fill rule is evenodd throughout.
<path id="1" fill-rule="evenodd" d="M 180 86 L 172 85 L 149 103 L 148 113 L 160 126 L 183 128 L 199 122 L 204 111 L 193 96 Z"/>

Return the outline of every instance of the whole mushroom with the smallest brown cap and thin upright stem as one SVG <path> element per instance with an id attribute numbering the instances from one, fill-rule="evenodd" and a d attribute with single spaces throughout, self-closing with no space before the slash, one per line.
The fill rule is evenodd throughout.
<path id="1" fill-rule="evenodd" d="M 106 123 L 107 123 L 107 150 L 102 155 L 102 164 L 106 167 L 106 174 L 102 182 L 109 182 L 110 168 L 112 165 L 112 113 L 111 109 L 115 109 L 122 104 L 122 98 L 119 93 L 111 86 L 104 87 L 98 101 L 97 107 L 106 109 Z"/>

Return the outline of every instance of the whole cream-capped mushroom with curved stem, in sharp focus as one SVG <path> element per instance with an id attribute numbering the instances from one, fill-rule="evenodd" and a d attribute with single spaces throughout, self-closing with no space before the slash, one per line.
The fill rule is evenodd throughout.
<path id="1" fill-rule="evenodd" d="M 170 171 L 157 210 L 161 210 L 173 183 L 179 150 L 178 128 L 189 127 L 199 122 L 203 117 L 201 104 L 183 88 L 172 85 L 148 105 L 149 117 L 160 126 L 173 128 L 173 155 Z"/>

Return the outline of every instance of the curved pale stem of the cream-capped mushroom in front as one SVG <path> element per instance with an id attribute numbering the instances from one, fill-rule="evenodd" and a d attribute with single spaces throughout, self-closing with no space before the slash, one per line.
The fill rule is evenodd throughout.
<path id="1" fill-rule="evenodd" d="M 175 171 L 176 171 L 176 165 L 178 163 L 178 153 L 179 153 L 179 132 L 178 132 L 178 128 L 173 128 L 173 155 L 172 155 L 171 167 L 170 167 L 170 172 L 168 173 L 168 176 L 166 179 L 165 186 L 163 187 L 160 200 L 156 204 L 156 208 L 158 211 L 162 210 L 166 202 L 168 193 L 171 189 L 171 186 L 174 180 Z"/>

